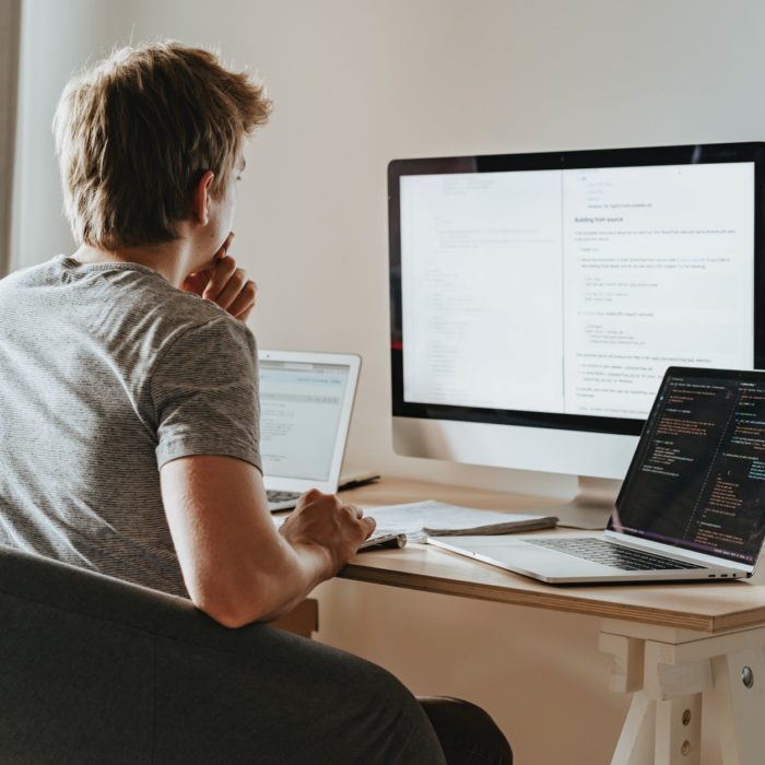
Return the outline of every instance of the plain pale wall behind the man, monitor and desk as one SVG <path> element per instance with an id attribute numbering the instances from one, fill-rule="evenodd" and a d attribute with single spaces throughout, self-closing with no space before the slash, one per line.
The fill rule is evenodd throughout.
<path id="1" fill-rule="evenodd" d="M 765 136 L 758 0 L 27 0 L 25 9 L 16 262 L 69 246 L 48 127 L 69 71 L 131 36 L 220 44 L 260 71 L 275 103 L 240 185 L 234 255 L 260 284 L 252 328 L 262 346 L 363 355 L 350 461 L 389 474 L 573 489 L 565 476 L 392 454 L 389 160 Z M 608 661 L 592 620 L 350 582 L 323 586 L 321 598 L 323 639 L 419 692 L 486 704 L 519 762 L 607 761 L 624 702 L 603 690 Z"/>

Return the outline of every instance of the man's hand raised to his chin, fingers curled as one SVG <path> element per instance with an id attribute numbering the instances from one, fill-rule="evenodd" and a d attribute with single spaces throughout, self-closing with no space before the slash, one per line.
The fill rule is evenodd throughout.
<path id="1" fill-rule="evenodd" d="M 213 256 L 213 267 L 190 273 L 181 290 L 212 301 L 235 319 L 245 321 L 255 308 L 258 285 L 251 279 L 247 279 L 245 270 L 238 268 L 234 258 L 228 255 L 233 238 L 234 232 L 228 234 L 221 249 Z"/>

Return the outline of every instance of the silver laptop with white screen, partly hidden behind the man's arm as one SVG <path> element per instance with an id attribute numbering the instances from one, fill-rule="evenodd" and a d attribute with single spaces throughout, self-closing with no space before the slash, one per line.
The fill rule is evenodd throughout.
<path id="1" fill-rule="evenodd" d="M 259 351 L 260 456 L 271 511 L 338 491 L 361 358 Z"/>

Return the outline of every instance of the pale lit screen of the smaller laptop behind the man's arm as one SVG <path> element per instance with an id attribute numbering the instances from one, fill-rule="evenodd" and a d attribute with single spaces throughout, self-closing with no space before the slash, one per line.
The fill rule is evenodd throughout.
<path id="1" fill-rule="evenodd" d="M 327 481 L 350 366 L 261 358 L 259 367 L 263 475 Z"/>

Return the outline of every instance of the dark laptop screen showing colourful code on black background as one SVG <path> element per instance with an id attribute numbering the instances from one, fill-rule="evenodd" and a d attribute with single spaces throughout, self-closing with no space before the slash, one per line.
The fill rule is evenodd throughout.
<path id="1" fill-rule="evenodd" d="M 668 369 L 609 530 L 754 564 L 764 501 L 765 374 Z"/>

